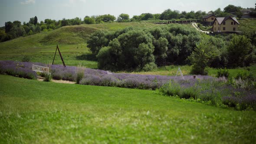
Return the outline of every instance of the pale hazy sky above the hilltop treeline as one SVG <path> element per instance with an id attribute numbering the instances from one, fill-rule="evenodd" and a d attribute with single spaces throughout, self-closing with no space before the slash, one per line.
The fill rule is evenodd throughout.
<path id="1" fill-rule="evenodd" d="M 118 17 L 127 13 L 132 17 L 141 13 L 162 13 L 166 9 L 208 12 L 217 8 L 223 10 L 229 4 L 255 7 L 255 3 L 256 0 L 0 0 L 0 26 L 7 21 L 28 22 L 34 16 L 38 22 L 102 14 Z"/>

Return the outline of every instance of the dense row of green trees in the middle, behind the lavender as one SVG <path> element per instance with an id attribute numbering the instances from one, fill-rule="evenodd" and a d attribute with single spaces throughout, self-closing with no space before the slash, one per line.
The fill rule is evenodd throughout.
<path id="1" fill-rule="evenodd" d="M 87 43 L 98 59 L 98 68 L 113 71 L 193 64 L 194 73 L 205 74 L 206 66 L 247 66 L 256 60 L 256 48 L 246 36 L 207 36 L 180 24 L 96 31 Z"/>

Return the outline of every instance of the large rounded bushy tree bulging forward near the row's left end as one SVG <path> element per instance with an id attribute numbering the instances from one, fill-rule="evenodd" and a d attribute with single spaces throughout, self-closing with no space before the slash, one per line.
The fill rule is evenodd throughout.
<path id="1" fill-rule="evenodd" d="M 131 30 L 113 39 L 97 58 L 100 69 L 149 70 L 155 66 L 153 51 L 150 33 Z"/>

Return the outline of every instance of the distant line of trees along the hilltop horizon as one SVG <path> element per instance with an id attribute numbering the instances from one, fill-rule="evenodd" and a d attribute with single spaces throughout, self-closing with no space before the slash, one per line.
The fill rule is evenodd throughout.
<path id="1" fill-rule="evenodd" d="M 223 11 L 218 8 L 215 11 L 210 11 L 210 13 L 215 14 L 215 16 L 226 16 L 232 15 L 230 13 L 236 14 L 236 16 L 241 17 L 243 14 L 241 13 L 242 7 L 236 7 L 233 5 L 226 6 Z M 250 10 L 254 10 L 254 8 L 250 8 Z M 251 14 L 255 15 L 255 11 Z M 19 36 L 28 36 L 33 35 L 35 33 L 40 33 L 41 31 L 50 31 L 53 29 L 57 29 L 61 26 L 70 26 L 70 25 L 80 25 L 80 24 L 94 24 L 94 23 L 109 23 L 113 21 L 117 22 L 130 22 L 130 21 L 141 21 L 141 20 L 189 20 L 189 19 L 202 19 L 203 16 L 206 16 L 207 13 L 205 11 L 178 11 L 167 9 L 164 10 L 161 14 L 152 14 L 152 13 L 142 13 L 138 16 L 133 16 L 130 18 L 128 14 L 121 13 L 117 18 L 110 14 L 98 15 L 98 16 L 85 16 L 83 20 L 81 18 L 76 17 L 74 19 L 65 19 L 62 20 L 51 20 L 45 19 L 44 21 L 38 22 L 37 17 L 30 18 L 29 22 L 23 22 L 23 25 L 20 21 L 6 22 L 5 27 L 0 29 L 0 42 L 4 42 L 10 39 L 15 39 Z"/>

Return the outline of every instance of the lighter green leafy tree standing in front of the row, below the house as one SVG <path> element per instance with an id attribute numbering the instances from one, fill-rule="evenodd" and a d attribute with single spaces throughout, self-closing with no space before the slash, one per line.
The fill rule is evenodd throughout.
<path id="1" fill-rule="evenodd" d="M 209 36 L 203 38 L 188 57 L 192 64 L 191 73 L 193 74 L 207 75 L 205 68 L 217 56 L 216 47 L 209 43 L 209 39 Z"/>

